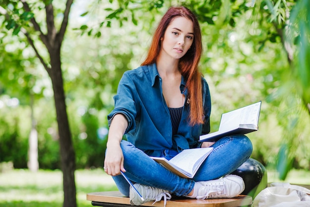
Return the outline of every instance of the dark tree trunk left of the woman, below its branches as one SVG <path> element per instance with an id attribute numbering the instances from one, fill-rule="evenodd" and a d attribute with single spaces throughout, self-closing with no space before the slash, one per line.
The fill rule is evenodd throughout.
<path id="1" fill-rule="evenodd" d="M 63 207 L 76 207 L 75 153 L 72 144 L 60 62 L 60 47 L 50 51 L 51 79 L 58 123 L 61 170 L 63 173 Z"/>

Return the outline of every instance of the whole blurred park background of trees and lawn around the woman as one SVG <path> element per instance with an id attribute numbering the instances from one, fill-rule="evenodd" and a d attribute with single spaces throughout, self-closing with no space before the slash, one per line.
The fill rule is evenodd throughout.
<path id="1" fill-rule="evenodd" d="M 267 168 L 271 181 L 288 181 L 294 175 L 289 182 L 307 184 L 307 0 L 68 2 L 72 3 L 69 12 L 61 0 L 0 0 L 0 206 L 65 206 L 61 152 L 66 151 L 74 155 L 70 163 L 75 165 L 71 171 L 76 175 L 79 206 L 90 206 L 84 201 L 87 192 L 116 190 L 102 170 L 106 116 L 113 109 L 123 72 L 140 66 L 159 19 L 169 6 L 181 4 L 193 10 L 201 23 L 200 68 L 210 87 L 211 132 L 217 131 L 222 113 L 262 101 L 259 130 L 248 134 L 254 146 L 251 157 Z M 66 15 L 63 39 L 49 36 L 51 28 L 61 31 Z M 51 48 L 59 41 L 61 48 L 53 53 Z M 55 55 L 61 62 L 59 85 L 66 106 L 62 109 L 57 109 L 59 99 L 54 96 L 60 80 L 52 75 L 58 70 Z M 58 133 L 61 130 L 70 136 Z M 28 195 L 25 188 L 29 199 L 18 196 Z M 40 189 L 50 189 L 45 195 L 60 193 L 52 200 L 31 197 Z"/>

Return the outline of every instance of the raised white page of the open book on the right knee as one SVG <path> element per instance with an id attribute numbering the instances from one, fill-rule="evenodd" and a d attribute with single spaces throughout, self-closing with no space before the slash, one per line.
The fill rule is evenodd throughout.
<path id="1" fill-rule="evenodd" d="M 223 113 L 219 126 L 219 131 L 229 131 L 239 128 L 240 124 L 250 124 L 257 126 L 260 111 L 260 104 L 251 104 L 236 110 Z"/>

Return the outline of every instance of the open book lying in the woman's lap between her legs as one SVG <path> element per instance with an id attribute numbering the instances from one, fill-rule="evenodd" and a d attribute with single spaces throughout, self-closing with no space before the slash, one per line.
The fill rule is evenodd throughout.
<path id="1" fill-rule="evenodd" d="M 185 178 L 193 178 L 200 165 L 205 161 L 213 148 L 194 148 L 183 150 L 172 159 L 151 156 L 156 162 L 171 172 Z"/>

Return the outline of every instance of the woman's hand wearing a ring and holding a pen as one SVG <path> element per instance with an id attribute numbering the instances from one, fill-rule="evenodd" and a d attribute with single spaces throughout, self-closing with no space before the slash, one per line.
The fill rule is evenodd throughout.
<path id="1" fill-rule="evenodd" d="M 108 175 L 115 176 L 119 175 L 120 171 L 125 172 L 124 155 L 119 142 L 109 142 L 107 144 L 103 166 Z"/>

